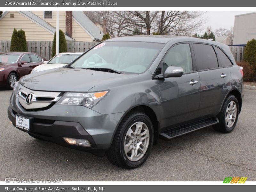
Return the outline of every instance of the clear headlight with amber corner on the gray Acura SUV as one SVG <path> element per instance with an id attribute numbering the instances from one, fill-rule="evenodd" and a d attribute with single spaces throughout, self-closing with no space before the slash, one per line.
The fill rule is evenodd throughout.
<path id="1" fill-rule="evenodd" d="M 56 105 L 83 105 L 92 108 L 92 106 L 98 103 L 107 93 L 108 91 L 88 93 L 67 92 Z"/>

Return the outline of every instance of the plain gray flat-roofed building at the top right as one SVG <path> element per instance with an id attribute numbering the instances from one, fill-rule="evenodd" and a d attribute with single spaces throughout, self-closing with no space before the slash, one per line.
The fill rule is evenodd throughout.
<path id="1" fill-rule="evenodd" d="M 256 39 L 256 12 L 235 16 L 234 45 L 245 46 Z"/>

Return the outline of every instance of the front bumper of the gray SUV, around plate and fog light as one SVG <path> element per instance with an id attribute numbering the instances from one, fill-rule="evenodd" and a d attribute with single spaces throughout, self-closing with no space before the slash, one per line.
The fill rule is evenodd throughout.
<path id="1" fill-rule="evenodd" d="M 8 117 L 15 126 L 15 115 L 31 119 L 29 133 L 44 140 L 82 150 L 108 149 L 114 137 L 116 127 L 124 113 L 101 115 L 84 106 L 53 105 L 41 111 L 25 111 L 19 98 L 12 94 L 8 108 Z M 24 130 L 22 130 L 24 131 Z M 68 144 L 63 137 L 86 139 L 91 147 Z"/>

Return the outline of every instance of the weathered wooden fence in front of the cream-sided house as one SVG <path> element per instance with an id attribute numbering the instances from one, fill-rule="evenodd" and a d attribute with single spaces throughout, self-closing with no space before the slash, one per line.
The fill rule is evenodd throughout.
<path id="1" fill-rule="evenodd" d="M 85 52 L 99 42 L 67 41 L 68 52 Z M 52 41 L 27 41 L 28 52 L 37 53 L 45 59 L 52 58 Z M 10 51 L 11 41 L 0 41 L 0 52 Z"/>

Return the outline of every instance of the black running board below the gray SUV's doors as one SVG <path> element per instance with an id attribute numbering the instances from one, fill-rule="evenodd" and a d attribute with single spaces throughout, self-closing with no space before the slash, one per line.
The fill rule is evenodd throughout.
<path id="1" fill-rule="evenodd" d="M 193 124 L 187 124 L 184 126 L 169 129 L 165 132 L 160 133 L 159 137 L 163 140 L 171 140 L 175 137 L 179 137 L 181 135 L 185 135 L 187 133 L 190 133 L 199 129 L 203 129 L 205 127 L 209 127 L 217 123 L 219 123 L 219 119 L 217 117 L 209 118 Z"/>

